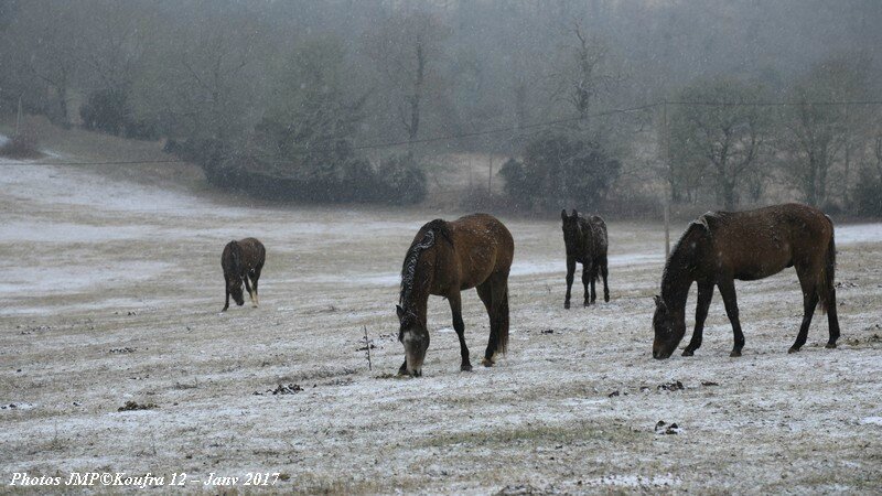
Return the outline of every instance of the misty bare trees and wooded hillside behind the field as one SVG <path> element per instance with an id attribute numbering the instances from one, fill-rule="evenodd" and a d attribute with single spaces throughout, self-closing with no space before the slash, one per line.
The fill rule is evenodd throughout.
<path id="1" fill-rule="evenodd" d="M 418 202 L 427 157 L 480 151 L 514 158 L 525 209 L 647 177 L 680 203 L 851 208 L 881 181 L 878 108 L 814 103 L 879 94 L 880 20 L 863 0 L 0 0 L 0 108 L 163 138 L 277 197 Z M 598 117 L 663 99 L 805 105 Z M 488 128 L 512 131 L 419 144 Z M 358 145 L 378 142 L 412 144 Z"/>

